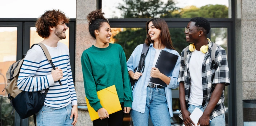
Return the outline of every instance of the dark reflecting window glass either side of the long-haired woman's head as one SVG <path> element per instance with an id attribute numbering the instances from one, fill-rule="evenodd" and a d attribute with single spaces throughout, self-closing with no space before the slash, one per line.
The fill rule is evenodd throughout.
<path id="1" fill-rule="evenodd" d="M 128 60 L 137 45 L 145 42 L 147 31 L 145 28 L 111 28 L 111 43 L 120 44 Z M 181 51 L 188 45 L 185 39 L 184 28 L 169 29 L 175 49 Z"/>

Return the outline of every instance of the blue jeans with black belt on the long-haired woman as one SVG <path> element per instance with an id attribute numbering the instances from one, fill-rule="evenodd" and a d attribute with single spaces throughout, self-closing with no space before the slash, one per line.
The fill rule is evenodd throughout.
<path id="1" fill-rule="evenodd" d="M 130 111 L 134 126 L 148 126 L 149 114 L 154 126 L 171 126 L 165 89 L 147 87 L 145 107 L 145 113 Z"/>

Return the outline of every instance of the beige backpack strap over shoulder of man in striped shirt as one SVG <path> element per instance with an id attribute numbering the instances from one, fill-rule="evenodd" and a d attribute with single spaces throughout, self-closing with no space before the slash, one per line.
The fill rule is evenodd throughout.
<path id="1" fill-rule="evenodd" d="M 48 49 L 46 48 L 46 46 L 45 46 L 43 43 L 37 43 L 37 44 L 33 44 L 33 45 L 31 46 L 31 48 L 32 48 L 34 45 L 39 45 L 39 46 L 41 47 L 41 49 L 43 50 L 43 52 L 44 52 L 44 54 L 45 54 L 47 60 L 48 60 L 49 63 L 52 65 L 53 70 L 56 70 L 55 65 L 54 65 L 53 62 L 52 62 L 52 57 L 51 57 L 51 55 L 50 55 Z M 31 48 L 30 48 L 30 49 L 31 49 Z M 60 80 L 59 80 L 59 84 L 62 85 L 61 82 L 60 82 Z M 47 89 L 47 90 L 44 92 L 45 95 L 48 93 L 48 90 L 49 90 L 49 89 Z"/>

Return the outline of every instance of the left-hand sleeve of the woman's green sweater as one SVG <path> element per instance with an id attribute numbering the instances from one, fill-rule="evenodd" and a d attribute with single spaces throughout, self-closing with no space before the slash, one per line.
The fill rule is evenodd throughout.
<path id="1" fill-rule="evenodd" d="M 92 108 L 95 111 L 97 111 L 102 106 L 100 104 L 100 99 L 98 98 L 97 91 L 96 91 L 96 84 L 92 76 L 92 65 L 86 53 L 82 54 L 81 63 L 82 63 L 83 78 L 84 78 L 85 96 L 87 97 L 89 104 L 92 106 Z"/>

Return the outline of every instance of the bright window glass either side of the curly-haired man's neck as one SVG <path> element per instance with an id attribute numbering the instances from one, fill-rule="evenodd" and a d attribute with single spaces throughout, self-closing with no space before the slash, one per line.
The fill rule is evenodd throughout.
<path id="1" fill-rule="evenodd" d="M 62 43 L 64 43 L 65 45 L 67 45 L 69 47 L 69 29 L 67 29 L 65 33 L 66 33 L 66 38 L 60 40 L 59 42 L 62 42 Z M 39 43 L 43 40 L 44 40 L 44 38 L 40 37 L 37 34 L 36 28 L 31 27 L 30 28 L 30 46 L 32 46 L 33 44 Z"/>

